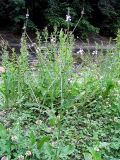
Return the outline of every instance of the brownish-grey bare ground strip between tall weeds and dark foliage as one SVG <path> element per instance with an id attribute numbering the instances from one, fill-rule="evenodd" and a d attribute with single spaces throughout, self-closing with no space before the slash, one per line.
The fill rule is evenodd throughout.
<path id="1" fill-rule="evenodd" d="M 32 33 L 29 33 L 30 38 L 34 41 L 35 35 Z M 16 52 L 18 53 L 20 49 L 20 39 L 21 35 L 15 34 L 11 31 L 0 31 L 0 41 L 5 40 L 8 42 L 10 48 L 15 48 Z M 73 56 L 79 57 L 77 54 L 77 51 L 81 48 L 85 52 L 89 51 L 92 52 L 94 50 L 112 50 L 115 46 L 115 41 L 111 40 L 110 38 L 102 37 L 99 35 L 91 34 L 89 35 L 89 38 L 87 41 L 83 41 L 80 37 L 76 38 L 75 41 L 75 47 L 73 51 Z M 31 53 L 30 60 L 34 60 L 34 54 Z M 1 61 L 1 60 L 0 60 Z"/>

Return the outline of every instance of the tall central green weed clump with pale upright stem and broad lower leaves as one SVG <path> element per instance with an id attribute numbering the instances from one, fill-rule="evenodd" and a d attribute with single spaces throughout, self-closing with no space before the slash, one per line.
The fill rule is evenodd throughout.
<path id="1" fill-rule="evenodd" d="M 60 33 L 55 31 L 50 37 L 48 37 L 46 30 L 43 37 L 44 43 L 40 41 L 39 33 L 37 33 L 37 37 L 38 41 L 34 45 L 34 49 L 38 62 L 31 79 L 29 75 L 27 77 L 27 85 L 31 91 L 32 100 L 29 102 L 34 102 L 33 108 L 37 103 L 39 111 L 45 109 L 46 112 L 48 110 L 52 112 L 52 114 L 48 114 L 48 119 L 49 124 L 55 128 L 53 134 L 55 135 L 57 146 L 52 147 L 49 142 L 46 147 L 53 154 L 50 154 L 48 150 L 44 154 L 47 159 L 56 160 L 60 159 L 60 157 L 67 157 L 74 151 L 73 146 L 66 146 L 61 141 L 63 116 L 74 102 L 74 97 L 68 96 L 71 95 L 73 87 L 68 79 L 73 74 L 72 49 L 74 40 L 71 35 L 64 33 L 62 30 Z M 45 142 L 46 140 L 48 141 L 48 138 L 45 137 Z M 63 153 L 63 148 L 67 152 Z"/>

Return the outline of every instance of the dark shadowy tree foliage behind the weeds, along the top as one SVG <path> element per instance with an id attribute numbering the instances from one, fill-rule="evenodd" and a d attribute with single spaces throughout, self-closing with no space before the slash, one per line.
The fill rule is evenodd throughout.
<path id="1" fill-rule="evenodd" d="M 55 25 L 66 28 L 68 7 L 72 16 L 71 29 L 80 18 L 84 7 L 84 17 L 76 30 L 83 36 L 91 32 L 114 36 L 120 27 L 119 0 L 0 0 L 0 27 L 20 30 L 28 8 L 30 29 L 35 26 L 39 29 L 45 26 L 52 29 Z"/>

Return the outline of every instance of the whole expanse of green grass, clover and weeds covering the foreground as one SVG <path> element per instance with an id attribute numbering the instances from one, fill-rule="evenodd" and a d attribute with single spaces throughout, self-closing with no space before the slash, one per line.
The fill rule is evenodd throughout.
<path id="1" fill-rule="evenodd" d="M 44 41 L 44 47 L 43 47 Z M 74 38 L 37 33 L 29 65 L 26 32 L 20 55 L 2 45 L 0 157 L 10 160 L 120 159 L 120 33 L 99 64 L 73 65 Z M 81 58 L 85 58 L 82 57 Z M 84 65 L 84 62 L 85 65 Z"/>

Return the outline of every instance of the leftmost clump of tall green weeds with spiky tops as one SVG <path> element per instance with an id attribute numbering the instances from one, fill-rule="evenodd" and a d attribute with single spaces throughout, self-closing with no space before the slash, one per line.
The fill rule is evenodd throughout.
<path id="1" fill-rule="evenodd" d="M 16 56 L 15 50 L 11 49 L 12 56 L 8 53 L 7 44 L 2 46 L 2 66 L 5 73 L 2 75 L 4 81 L 3 93 L 5 95 L 5 106 L 17 106 L 26 95 L 26 84 L 24 74 L 28 69 L 28 51 L 25 36 L 21 40 L 21 54 Z"/>

